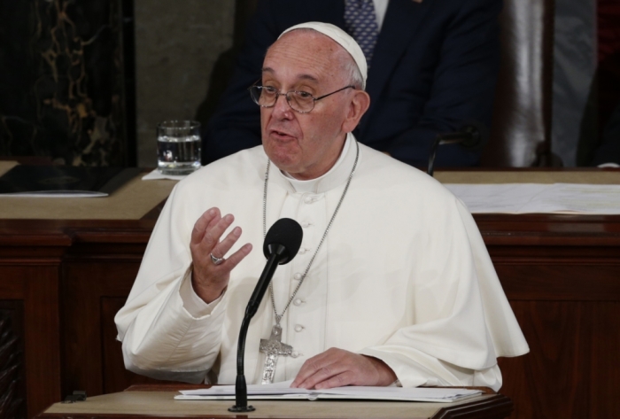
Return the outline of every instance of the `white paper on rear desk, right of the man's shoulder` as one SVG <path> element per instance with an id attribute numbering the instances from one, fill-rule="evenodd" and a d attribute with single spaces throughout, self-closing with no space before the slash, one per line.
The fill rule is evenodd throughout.
<path id="1" fill-rule="evenodd" d="M 446 184 L 471 213 L 620 214 L 620 185 Z"/>

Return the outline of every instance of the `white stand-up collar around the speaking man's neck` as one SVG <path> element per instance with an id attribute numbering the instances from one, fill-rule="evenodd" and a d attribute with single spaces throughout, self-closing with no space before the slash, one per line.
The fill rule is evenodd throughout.
<path id="1" fill-rule="evenodd" d="M 324 193 L 346 182 L 353 169 L 356 153 L 357 147 L 355 146 L 355 137 L 352 133 L 348 133 L 340 157 L 337 159 L 336 164 L 331 167 L 325 175 L 309 181 L 299 181 L 298 179 L 293 179 L 290 175 L 283 174 L 282 171 L 272 163 L 269 168 L 269 182 L 273 181 L 283 187 L 283 189 L 289 190 L 291 193 Z"/>

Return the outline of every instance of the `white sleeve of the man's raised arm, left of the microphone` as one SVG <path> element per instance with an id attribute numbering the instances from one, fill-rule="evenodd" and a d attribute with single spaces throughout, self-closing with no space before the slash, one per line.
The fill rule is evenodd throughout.
<path id="1" fill-rule="evenodd" d="M 180 290 L 191 273 L 191 229 L 200 214 L 182 205 L 178 186 L 153 229 L 128 301 L 114 320 L 127 369 L 200 383 L 220 353 L 226 296 L 204 313 L 195 311 L 199 316 L 184 304 Z"/>

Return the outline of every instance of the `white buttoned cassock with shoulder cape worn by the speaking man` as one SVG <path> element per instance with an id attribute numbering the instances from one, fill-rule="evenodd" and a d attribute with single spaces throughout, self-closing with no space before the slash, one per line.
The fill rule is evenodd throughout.
<path id="1" fill-rule="evenodd" d="M 499 389 L 497 357 L 529 351 L 467 208 L 439 182 L 359 144 L 350 189 L 306 279 L 282 319 L 275 382 L 304 361 L 337 347 L 384 361 L 403 386 L 486 385 Z M 322 177 L 291 180 L 271 165 L 267 229 L 297 220 L 297 256 L 273 279 L 281 313 L 336 209 L 356 155 L 349 135 Z M 265 266 L 262 146 L 218 160 L 179 182 L 149 242 L 127 304 L 115 321 L 126 367 L 162 379 L 234 384 L 236 343 L 245 306 Z M 190 237 L 207 209 L 235 215 L 252 252 L 228 289 L 206 305 L 190 285 Z M 250 323 L 245 376 L 260 383 L 275 315 L 268 293 Z M 212 378 L 213 381 L 213 378 Z"/>

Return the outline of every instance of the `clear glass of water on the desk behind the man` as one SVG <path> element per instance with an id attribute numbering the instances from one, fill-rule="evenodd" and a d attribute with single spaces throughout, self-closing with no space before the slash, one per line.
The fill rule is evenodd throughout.
<path id="1" fill-rule="evenodd" d="M 200 123 L 165 120 L 157 126 L 157 167 L 163 175 L 189 175 L 200 168 Z"/>

